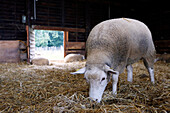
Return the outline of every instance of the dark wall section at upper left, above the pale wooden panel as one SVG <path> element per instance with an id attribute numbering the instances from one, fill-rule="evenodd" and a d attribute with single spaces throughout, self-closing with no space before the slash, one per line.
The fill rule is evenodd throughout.
<path id="1" fill-rule="evenodd" d="M 25 7 L 24 0 L 0 0 L 0 40 L 26 40 L 25 25 L 21 23 Z"/>

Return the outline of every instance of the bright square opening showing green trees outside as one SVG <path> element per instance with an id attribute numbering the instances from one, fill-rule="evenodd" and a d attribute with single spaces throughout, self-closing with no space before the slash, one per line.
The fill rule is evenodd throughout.
<path id="1" fill-rule="evenodd" d="M 45 57 L 49 60 L 64 58 L 64 31 L 34 30 L 35 57 Z"/>

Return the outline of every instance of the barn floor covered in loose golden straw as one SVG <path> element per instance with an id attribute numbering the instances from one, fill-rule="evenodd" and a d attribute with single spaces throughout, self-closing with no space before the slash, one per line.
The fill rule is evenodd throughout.
<path id="1" fill-rule="evenodd" d="M 127 82 L 124 72 L 119 77 L 118 95 L 112 96 L 110 82 L 100 104 L 88 99 L 88 84 L 83 75 L 69 74 L 84 64 L 0 64 L 0 112 L 170 111 L 170 63 L 155 63 L 155 85 L 150 83 L 143 63 L 135 63 L 133 83 Z"/>

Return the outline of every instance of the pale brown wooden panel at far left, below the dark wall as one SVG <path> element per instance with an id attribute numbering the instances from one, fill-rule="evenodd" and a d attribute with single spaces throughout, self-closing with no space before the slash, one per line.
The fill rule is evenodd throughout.
<path id="1" fill-rule="evenodd" d="M 19 62 L 19 41 L 0 41 L 0 62 Z"/>

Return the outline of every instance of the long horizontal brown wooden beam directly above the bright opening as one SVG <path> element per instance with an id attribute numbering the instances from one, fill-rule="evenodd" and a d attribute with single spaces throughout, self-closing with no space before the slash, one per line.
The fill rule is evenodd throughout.
<path id="1" fill-rule="evenodd" d="M 68 27 L 49 27 L 49 26 L 32 26 L 33 29 L 38 30 L 57 30 L 57 31 L 70 31 L 70 32 L 85 32 L 83 28 L 68 28 Z"/>

